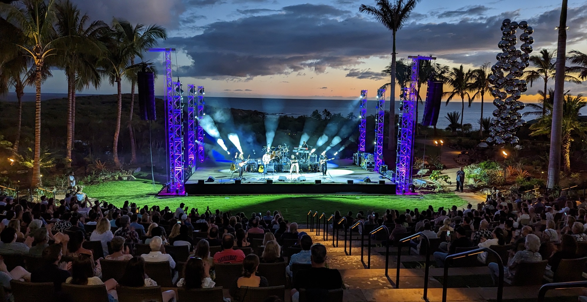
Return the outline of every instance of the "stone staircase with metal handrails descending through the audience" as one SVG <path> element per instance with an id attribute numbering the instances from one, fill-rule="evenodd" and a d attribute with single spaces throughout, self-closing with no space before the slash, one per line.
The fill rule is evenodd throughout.
<path id="1" fill-rule="evenodd" d="M 400 263 L 399 289 L 396 289 L 397 248 L 390 248 L 389 279 L 385 276 L 385 248 L 372 247 L 371 269 L 366 269 L 367 248 L 364 250 L 364 261 L 361 262 L 360 236 L 353 235 L 351 255 L 347 255 L 343 248 L 343 234 L 340 234 L 338 247 L 332 246 L 332 233 L 329 241 L 324 241 L 315 231 L 300 229 L 312 237 L 314 243 L 322 243 L 327 249 L 327 263 L 331 269 L 340 270 L 345 290 L 345 302 L 363 301 L 403 301 L 420 302 L 423 297 L 424 269 L 426 257 L 423 255 L 408 255 L 408 248 L 402 248 Z M 357 240 L 358 239 L 358 240 Z M 366 241 L 365 241 L 366 242 Z M 349 249 L 347 249 L 347 252 Z M 420 263 L 422 263 L 419 268 Z M 406 268 L 418 267 L 418 268 Z M 442 301 L 442 277 L 444 269 L 434 267 L 431 257 L 429 276 L 429 301 Z M 497 298 L 497 287 L 494 287 L 487 267 L 454 267 L 448 270 L 449 288 L 447 301 L 494 301 Z M 503 301 L 519 301 L 529 299 L 535 301 L 538 297 L 539 286 L 504 287 Z M 578 296 L 579 289 L 551 290 L 546 297 Z M 288 300 L 289 297 L 286 297 Z M 566 300 L 565 300 L 566 301 Z M 576 300 L 575 300 L 576 301 Z"/>

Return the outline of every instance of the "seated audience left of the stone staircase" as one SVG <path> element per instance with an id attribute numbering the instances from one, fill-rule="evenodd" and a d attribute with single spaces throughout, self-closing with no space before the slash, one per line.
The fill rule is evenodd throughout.
<path id="1" fill-rule="evenodd" d="M 173 287 L 210 289 L 218 286 L 218 278 L 228 277 L 234 282 L 221 286 L 239 301 L 247 292 L 241 287 L 271 284 L 259 266 L 281 262 L 284 280 L 288 276 L 293 286 L 292 301 L 298 301 L 300 289 L 343 288 L 338 270 L 325 266 L 325 246 L 298 232 L 298 225 L 280 212 L 247 217 L 210 208 L 202 214 L 188 210 L 184 204 L 173 211 L 139 208 L 128 201 L 118 208 L 87 198 L 56 204 L 53 198 L 30 203 L 0 196 L 0 283 L 8 299 L 11 280 L 19 280 L 53 283 L 59 301 L 73 301 L 63 289 L 66 283 L 103 284 L 111 302 L 118 300 L 117 289 L 161 286 L 163 301 L 181 302 Z M 15 263 L 12 255 L 27 260 Z M 112 263 L 122 266 L 112 272 Z M 241 264 L 239 273 L 218 276 L 218 266 L 234 263 Z M 294 265 L 305 266 L 295 270 Z M 162 274 L 170 277 L 162 280 Z M 281 300 L 272 296 L 267 301 Z"/>

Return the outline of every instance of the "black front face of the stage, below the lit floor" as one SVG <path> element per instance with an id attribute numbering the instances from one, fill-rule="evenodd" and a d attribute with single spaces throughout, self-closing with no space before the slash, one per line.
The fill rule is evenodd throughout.
<path id="1" fill-rule="evenodd" d="M 395 184 L 286 184 L 274 181 L 272 184 L 185 184 L 185 193 L 188 195 L 277 195 L 277 194 L 396 194 Z"/>

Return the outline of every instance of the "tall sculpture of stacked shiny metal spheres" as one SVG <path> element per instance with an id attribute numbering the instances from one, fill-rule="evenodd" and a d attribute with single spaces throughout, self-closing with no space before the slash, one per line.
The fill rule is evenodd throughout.
<path id="1" fill-rule="evenodd" d="M 516 29 L 524 31 L 519 35 L 523 43 L 516 49 L 518 37 Z M 491 122 L 490 137 L 485 141 L 490 144 L 517 143 L 519 138 L 515 136 L 521 126 L 526 124 L 522 115 L 518 112 L 524 109 L 524 103 L 518 101 L 523 92 L 528 90 L 525 80 L 519 77 L 524 75 L 524 69 L 529 66 L 529 53 L 532 52 L 531 44 L 534 38 L 530 35 L 534 29 L 528 26 L 528 22 L 512 22 L 505 19 L 501 25 L 503 36 L 497 44 L 502 50 L 497 54 L 497 63 L 491 67 L 492 74 L 488 80 L 491 85 L 491 95 L 495 97 L 493 104 L 497 109 L 493 111 L 495 119 Z M 505 74 L 507 73 L 507 74 Z"/>

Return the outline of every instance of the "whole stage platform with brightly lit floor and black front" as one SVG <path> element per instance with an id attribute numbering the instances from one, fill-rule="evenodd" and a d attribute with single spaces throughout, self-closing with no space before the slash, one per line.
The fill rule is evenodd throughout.
<path id="1" fill-rule="evenodd" d="M 352 160 L 332 160 L 328 163 L 328 173 L 308 171 L 308 165 L 301 166 L 301 173 L 289 174 L 289 172 L 258 173 L 245 172 L 241 184 L 236 184 L 238 170 L 232 173 L 230 162 L 215 162 L 207 160 L 185 183 L 185 193 L 188 195 L 255 195 L 255 194 L 396 194 L 396 185 L 389 179 L 380 178 L 380 174 L 363 170 L 352 164 Z M 279 169 L 276 169 L 279 170 Z M 280 181 L 279 177 L 285 177 Z M 299 176 L 305 177 L 305 181 L 298 180 Z M 214 177 L 212 182 L 198 184 L 199 180 L 208 180 Z M 371 183 L 364 181 L 369 177 Z M 267 180 L 272 180 L 268 184 Z M 315 184 L 320 180 L 321 184 Z M 352 180 L 353 184 L 347 181 Z M 379 184 L 383 180 L 384 184 Z"/>

